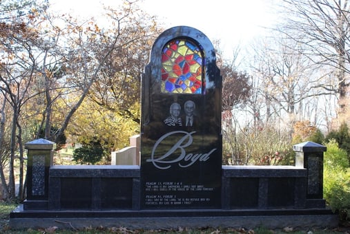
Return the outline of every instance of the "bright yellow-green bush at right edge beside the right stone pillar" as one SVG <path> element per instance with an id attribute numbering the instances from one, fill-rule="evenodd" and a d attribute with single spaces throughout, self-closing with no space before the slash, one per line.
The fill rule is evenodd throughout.
<path id="1" fill-rule="evenodd" d="M 350 169 L 347 152 L 340 149 L 335 139 L 326 144 L 324 153 L 323 196 L 341 219 L 350 217 Z"/>

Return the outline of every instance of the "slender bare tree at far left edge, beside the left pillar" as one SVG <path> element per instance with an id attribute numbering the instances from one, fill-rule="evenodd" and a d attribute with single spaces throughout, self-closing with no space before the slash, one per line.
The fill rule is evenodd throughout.
<path id="1" fill-rule="evenodd" d="M 6 2 L 8 3 L 8 2 Z M 35 19 L 36 10 L 34 1 L 20 1 L 17 4 L 1 5 L 4 11 L 0 23 L 0 47 L 3 56 L 0 63 L 0 92 L 3 98 L 12 107 L 10 133 L 10 160 L 8 196 L 15 197 L 14 159 L 19 151 L 19 193 L 23 193 L 23 148 L 21 147 L 21 109 L 30 100 L 30 86 L 35 79 L 35 52 L 33 41 L 38 41 L 37 29 L 31 27 Z M 41 8 L 43 9 L 45 4 Z M 25 10 L 23 14 L 22 10 Z M 12 14 L 17 12 L 17 14 Z M 5 103 L 4 103 L 5 105 Z M 5 136 L 3 136 L 5 137 Z M 1 139 L 3 140 L 3 139 Z"/>

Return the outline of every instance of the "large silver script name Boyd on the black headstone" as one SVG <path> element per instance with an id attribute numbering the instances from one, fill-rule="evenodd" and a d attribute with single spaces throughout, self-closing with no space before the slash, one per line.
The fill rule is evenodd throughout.
<path id="1" fill-rule="evenodd" d="M 171 138 L 175 134 L 182 134 L 182 138 L 180 138 L 172 147 L 169 147 L 168 151 L 164 153 L 164 155 L 155 158 L 155 152 L 157 151 L 157 147 L 162 144 L 162 141 L 166 138 Z M 155 142 L 153 146 L 152 153 L 150 158 L 146 160 L 146 162 L 152 162 L 155 167 L 158 169 L 168 169 L 171 167 L 172 163 L 178 162 L 179 167 L 190 167 L 197 161 L 206 161 L 210 158 L 211 153 L 213 153 L 215 149 L 211 149 L 208 153 L 186 153 L 186 147 L 190 146 L 193 142 L 193 134 L 195 131 L 187 132 L 187 131 L 171 131 L 167 134 L 164 134 L 161 138 Z M 179 149 L 179 155 L 175 159 L 171 159 L 173 157 L 173 153 L 176 153 Z"/>

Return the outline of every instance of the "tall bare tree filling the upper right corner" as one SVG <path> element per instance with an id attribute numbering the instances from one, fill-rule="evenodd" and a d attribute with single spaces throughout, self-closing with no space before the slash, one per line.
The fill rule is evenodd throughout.
<path id="1" fill-rule="evenodd" d="M 342 99 L 349 85 L 346 74 L 350 74 L 350 4 L 348 0 L 284 0 L 282 9 L 288 16 L 280 28 L 290 39 L 304 45 L 303 54 L 313 63 L 331 67 L 338 81 L 336 87 L 320 85 Z M 287 14 L 286 14 L 287 13 Z"/>

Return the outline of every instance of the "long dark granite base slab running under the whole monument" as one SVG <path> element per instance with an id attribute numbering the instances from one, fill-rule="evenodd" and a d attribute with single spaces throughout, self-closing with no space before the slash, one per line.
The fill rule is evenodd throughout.
<path id="1" fill-rule="evenodd" d="M 86 227 L 159 228 L 332 228 L 338 215 L 329 209 L 284 210 L 143 210 L 143 211 L 23 211 L 10 213 L 11 228 L 62 229 Z"/>

